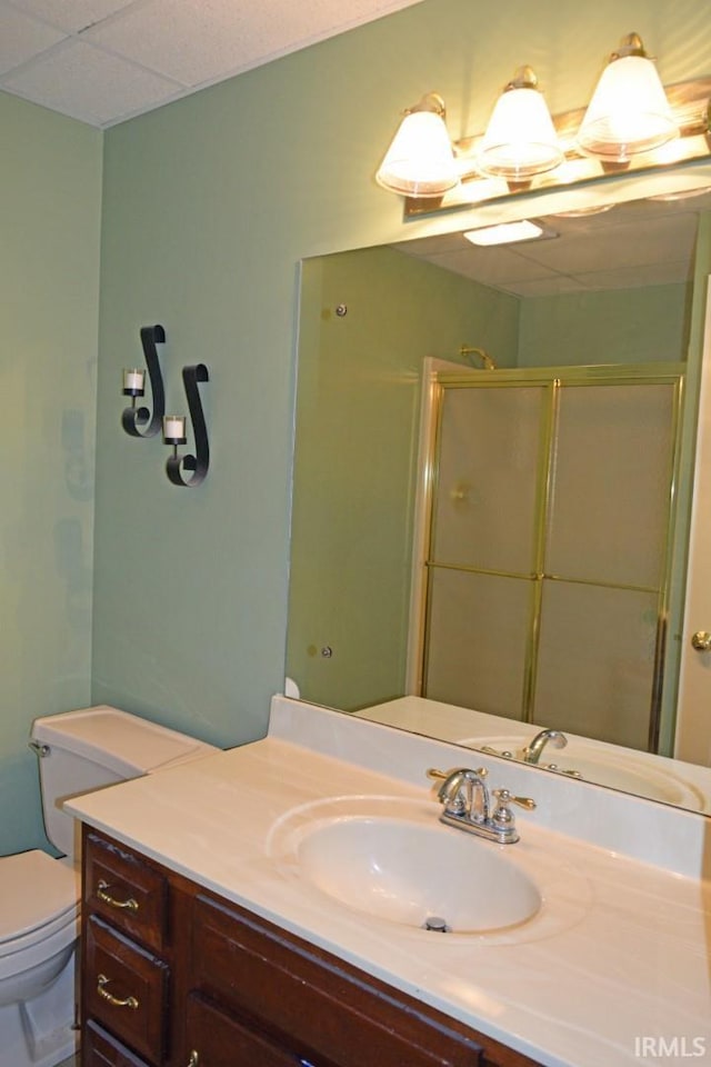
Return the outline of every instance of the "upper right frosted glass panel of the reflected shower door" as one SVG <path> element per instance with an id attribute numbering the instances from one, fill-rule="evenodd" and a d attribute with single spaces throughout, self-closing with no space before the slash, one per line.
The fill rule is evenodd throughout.
<path id="1" fill-rule="evenodd" d="M 545 572 L 658 587 L 673 457 L 673 385 L 560 390 Z"/>

